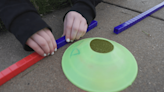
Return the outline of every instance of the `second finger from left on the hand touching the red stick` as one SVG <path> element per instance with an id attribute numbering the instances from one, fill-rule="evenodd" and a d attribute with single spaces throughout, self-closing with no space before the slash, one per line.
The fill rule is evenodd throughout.
<path id="1" fill-rule="evenodd" d="M 50 54 L 50 48 L 47 44 L 47 41 L 43 37 L 36 33 L 31 37 L 31 39 L 33 39 L 46 54 Z"/>

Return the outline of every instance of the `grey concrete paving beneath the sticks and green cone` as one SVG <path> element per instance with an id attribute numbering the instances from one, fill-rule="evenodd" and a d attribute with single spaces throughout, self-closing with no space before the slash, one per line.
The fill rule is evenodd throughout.
<path id="1" fill-rule="evenodd" d="M 119 35 L 113 33 L 115 26 L 163 0 L 104 1 L 96 8 L 95 20 L 98 21 L 98 26 L 82 39 L 104 37 L 122 44 L 132 52 L 138 63 L 138 76 L 135 82 L 122 92 L 164 92 L 164 9 Z M 56 39 L 62 35 L 62 16 L 68 9 L 55 11 L 43 18 L 52 27 Z M 62 71 L 62 55 L 69 45 L 71 44 L 65 45 L 55 55 L 44 58 L 0 86 L 0 92 L 84 92 L 71 84 Z M 0 51 L 0 70 L 32 53 L 24 51 L 9 32 L 0 32 Z M 28 73 L 33 68 L 35 69 Z"/>

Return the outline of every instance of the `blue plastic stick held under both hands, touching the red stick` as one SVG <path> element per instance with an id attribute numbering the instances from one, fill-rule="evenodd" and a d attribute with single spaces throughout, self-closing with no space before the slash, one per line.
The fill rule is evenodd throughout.
<path id="1" fill-rule="evenodd" d="M 87 32 L 90 31 L 91 29 L 93 29 L 94 27 L 97 26 L 97 21 L 93 20 L 91 22 L 91 24 L 88 26 Z M 56 40 L 57 43 L 57 49 L 59 49 L 60 47 L 64 46 L 67 44 L 66 40 L 65 40 L 65 36 L 59 38 Z"/>

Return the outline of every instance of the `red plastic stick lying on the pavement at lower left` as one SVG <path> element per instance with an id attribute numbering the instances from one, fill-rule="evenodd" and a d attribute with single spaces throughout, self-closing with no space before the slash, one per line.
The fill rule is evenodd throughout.
<path id="1" fill-rule="evenodd" d="M 9 66 L 5 70 L 1 71 L 0 72 L 0 86 L 43 58 L 44 57 L 34 52 L 26 56 L 22 60 L 16 62 L 15 64 Z"/>

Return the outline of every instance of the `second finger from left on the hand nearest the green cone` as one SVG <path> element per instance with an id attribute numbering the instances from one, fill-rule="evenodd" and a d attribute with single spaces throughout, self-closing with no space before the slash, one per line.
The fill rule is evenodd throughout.
<path id="1" fill-rule="evenodd" d="M 80 26 L 80 20 L 79 20 L 79 18 L 75 18 L 73 21 L 73 27 L 72 27 L 72 32 L 71 32 L 71 40 L 72 41 L 75 40 L 78 31 L 81 31 L 81 30 L 79 30 L 79 26 Z"/>

